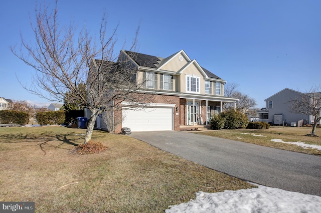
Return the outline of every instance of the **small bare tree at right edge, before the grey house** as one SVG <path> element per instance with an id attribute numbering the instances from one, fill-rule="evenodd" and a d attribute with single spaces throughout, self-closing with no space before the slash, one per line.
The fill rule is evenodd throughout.
<path id="1" fill-rule="evenodd" d="M 312 131 L 307 136 L 316 136 L 316 126 L 321 120 L 321 87 L 314 87 L 307 93 L 300 93 L 299 97 L 289 103 L 292 113 L 313 116 Z"/>

